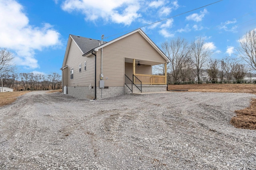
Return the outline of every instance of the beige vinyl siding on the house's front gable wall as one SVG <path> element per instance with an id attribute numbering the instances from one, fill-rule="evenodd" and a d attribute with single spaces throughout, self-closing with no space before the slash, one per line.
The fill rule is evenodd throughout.
<path id="1" fill-rule="evenodd" d="M 134 33 L 103 48 L 103 80 L 105 86 L 124 86 L 125 58 L 166 63 L 166 60 L 140 33 Z M 101 50 L 97 52 L 97 86 L 100 80 L 100 62 Z M 151 66 L 136 68 L 136 73 L 151 74 Z M 108 80 L 106 80 L 106 77 L 108 77 Z"/>

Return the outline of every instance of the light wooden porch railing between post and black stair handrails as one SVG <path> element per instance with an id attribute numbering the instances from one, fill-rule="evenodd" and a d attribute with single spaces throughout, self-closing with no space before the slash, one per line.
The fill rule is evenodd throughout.
<path id="1" fill-rule="evenodd" d="M 166 84 L 165 76 L 135 74 L 142 84 Z"/>

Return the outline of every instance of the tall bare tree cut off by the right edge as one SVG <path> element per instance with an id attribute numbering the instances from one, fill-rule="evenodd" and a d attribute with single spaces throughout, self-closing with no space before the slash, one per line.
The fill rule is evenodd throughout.
<path id="1" fill-rule="evenodd" d="M 239 42 L 238 56 L 256 70 L 256 29 L 247 32 Z"/>

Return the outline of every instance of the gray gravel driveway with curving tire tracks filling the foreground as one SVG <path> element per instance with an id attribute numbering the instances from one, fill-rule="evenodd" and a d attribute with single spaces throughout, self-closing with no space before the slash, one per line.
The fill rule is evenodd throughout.
<path id="1" fill-rule="evenodd" d="M 0 169 L 256 169 L 256 95 L 170 92 L 78 100 L 30 92 L 0 107 Z"/>

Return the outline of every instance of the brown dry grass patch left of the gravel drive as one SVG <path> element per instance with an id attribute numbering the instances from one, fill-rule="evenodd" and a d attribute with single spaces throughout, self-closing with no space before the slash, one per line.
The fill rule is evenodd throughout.
<path id="1" fill-rule="evenodd" d="M 6 106 L 14 102 L 18 96 L 28 93 L 29 91 L 21 92 L 4 92 L 0 93 L 0 106 Z"/>

